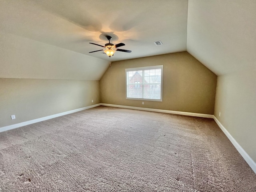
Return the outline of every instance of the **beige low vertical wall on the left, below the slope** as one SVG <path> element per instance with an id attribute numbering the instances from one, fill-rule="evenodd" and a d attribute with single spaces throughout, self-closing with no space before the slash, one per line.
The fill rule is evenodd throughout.
<path id="1" fill-rule="evenodd" d="M 99 90 L 99 81 L 0 78 L 0 127 L 98 104 Z"/>

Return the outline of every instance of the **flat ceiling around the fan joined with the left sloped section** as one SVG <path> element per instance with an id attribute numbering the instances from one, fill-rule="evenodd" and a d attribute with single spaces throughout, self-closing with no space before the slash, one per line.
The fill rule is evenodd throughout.
<path id="1" fill-rule="evenodd" d="M 186 50 L 188 0 L 1 0 L 0 78 L 99 80 L 111 61 Z M 155 41 L 162 41 L 156 46 Z"/>

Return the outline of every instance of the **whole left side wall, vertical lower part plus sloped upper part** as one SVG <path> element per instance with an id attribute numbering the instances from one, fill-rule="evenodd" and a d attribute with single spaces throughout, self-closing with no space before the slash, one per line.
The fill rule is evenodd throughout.
<path id="1" fill-rule="evenodd" d="M 0 45 L 0 127 L 100 102 L 107 60 L 1 30 Z"/>

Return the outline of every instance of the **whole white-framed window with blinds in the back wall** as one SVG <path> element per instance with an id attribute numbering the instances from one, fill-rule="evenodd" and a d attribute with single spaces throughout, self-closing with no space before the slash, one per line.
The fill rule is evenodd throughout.
<path id="1" fill-rule="evenodd" d="M 163 65 L 125 69 L 126 99 L 162 101 Z"/>

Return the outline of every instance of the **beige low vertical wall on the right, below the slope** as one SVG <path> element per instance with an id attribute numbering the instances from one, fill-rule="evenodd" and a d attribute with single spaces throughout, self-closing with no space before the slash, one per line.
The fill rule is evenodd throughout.
<path id="1" fill-rule="evenodd" d="M 256 162 L 256 69 L 218 76 L 214 116 Z M 220 116 L 219 116 L 220 112 Z"/>

